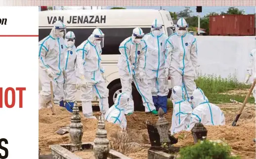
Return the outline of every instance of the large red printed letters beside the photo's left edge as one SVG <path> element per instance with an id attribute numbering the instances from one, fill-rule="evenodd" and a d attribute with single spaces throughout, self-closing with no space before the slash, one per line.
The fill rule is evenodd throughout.
<path id="1" fill-rule="evenodd" d="M 2 108 L 2 102 L 3 102 L 3 92 L 2 88 L 0 88 L 0 108 Z M 23 92 L 26 91 L 25 87 L 17 87 L 16 91 L 19 91 L 19 108 L 23 108 Z M 8 102 L 8 93 L 11 92 L 11 103 Z M 8 87 L 4 91 L 4 104 L 7 108 L 13 108 L 15 105 L 15 90 L 12 87 Z"/>

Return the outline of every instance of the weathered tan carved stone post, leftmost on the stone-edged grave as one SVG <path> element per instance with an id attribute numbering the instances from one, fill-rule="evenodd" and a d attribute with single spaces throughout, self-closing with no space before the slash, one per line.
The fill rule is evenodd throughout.
<path id="1" fill-rule="evenodd" d="M 77 103 L 74 103 L 73 113 L 71 117 L 71 124 L 69 128 L 69 134 L 71 139 L 71 152 L 81 150 L 82 137 L 83 137 L 83 124 L 81 123 L 81 117 L 79 114 L 79 108 Z"/>

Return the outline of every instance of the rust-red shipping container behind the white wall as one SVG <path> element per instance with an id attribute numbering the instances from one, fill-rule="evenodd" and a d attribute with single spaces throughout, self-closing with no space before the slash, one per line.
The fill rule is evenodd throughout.
<path id="1" fill-rule="evenodd" d="M 255 15 L 210 16 L 210 35 L 255 35 Z"/>

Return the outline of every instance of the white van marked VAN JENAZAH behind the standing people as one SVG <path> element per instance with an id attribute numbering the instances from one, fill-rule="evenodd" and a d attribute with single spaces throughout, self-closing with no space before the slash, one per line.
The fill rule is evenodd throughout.
<path id="1" fill-rule="evenodd" d="M 154 19 L 162 21 L 163 31 L 170 36 L 174 32 L 174 25 L 169 11 L 154 9 L 98 9 L 98 10 L 47 10 L 39 12 L 39 41 L 46 37 L 57 20 L 61 20 L 67 27 L 67 32 L 76 35 L 76 46 L 85 41 L 95 28 L 100 28 L 105 34 L 104 48 L 102 48 L 102 65 L 107 76 L 109 89 L 109 105 L 113 105 L 116 96 L 121 93 L 121 82 L 118 74 L 119 45 L 132 30 L 140 27 L 144 33 L 150 32 Z M 170 80 L 169 80 L 170 81 Z M 171 90 L 171 83 L 169 82 Z M 39 91 L 42 90 L 39 83 Z M 169 97 L 171 91 L 169 93 Z M 94 101 L 98 101 L 96 96 Z M 141 96 L 132 84 L 134 110 L 144 110 Z M 80 91 L 76 100 L 81 101 Z"/>

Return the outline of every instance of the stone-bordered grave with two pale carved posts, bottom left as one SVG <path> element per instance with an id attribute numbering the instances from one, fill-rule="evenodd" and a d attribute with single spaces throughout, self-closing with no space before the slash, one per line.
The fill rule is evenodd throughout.
<path id="1" fill-rule="evenodd" d="M 52 159 L 130 159 L 109 148 L 104 114 L 99 117 L 94 142 L 82 143 L 83 124 L 81 123 L 79 108 L 75 103 L 69 133 L 71 143 L 50 145 Z"/>

